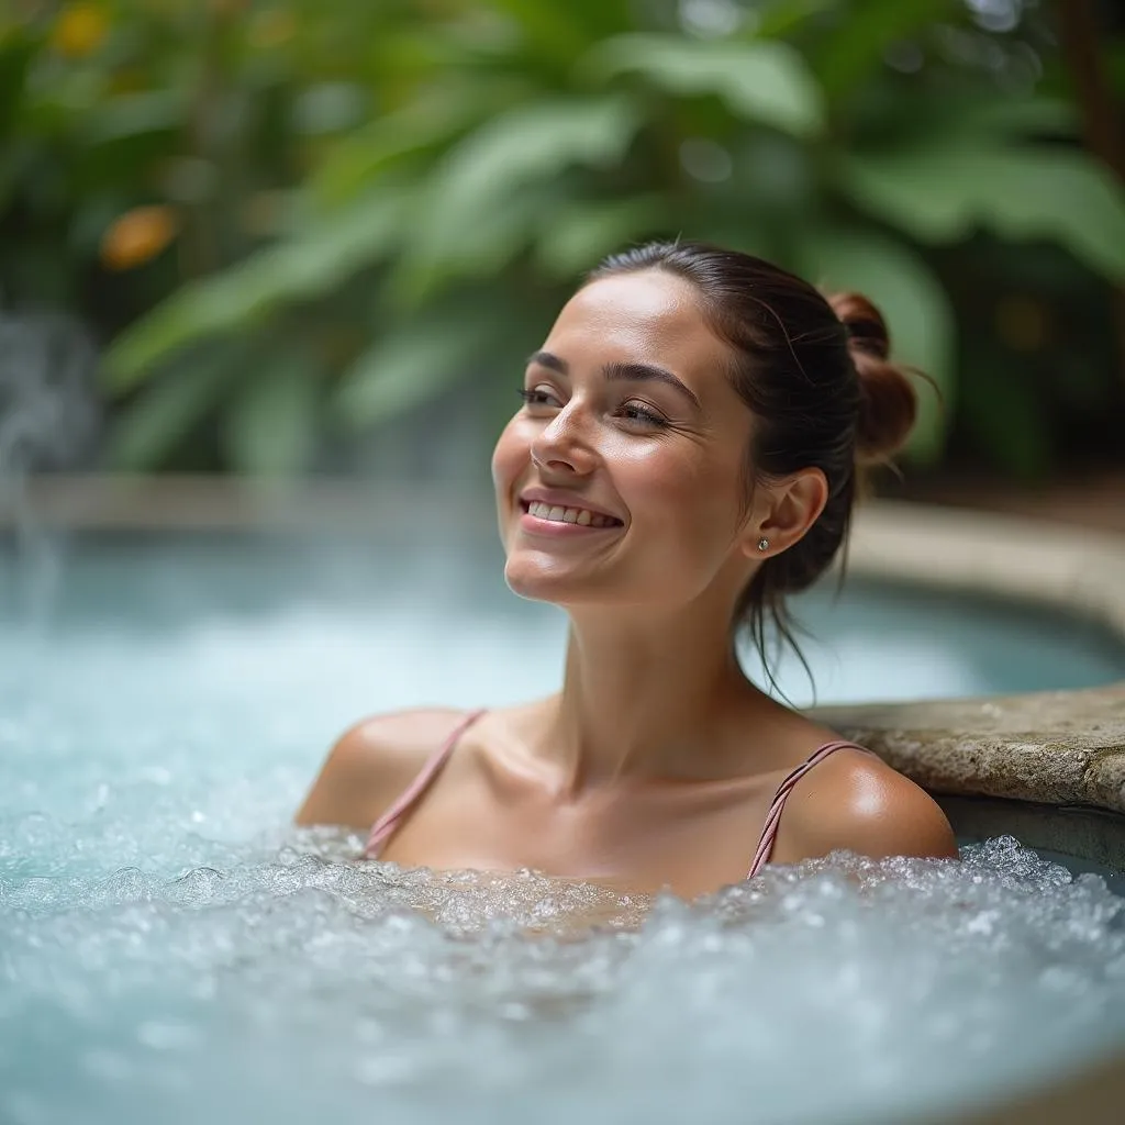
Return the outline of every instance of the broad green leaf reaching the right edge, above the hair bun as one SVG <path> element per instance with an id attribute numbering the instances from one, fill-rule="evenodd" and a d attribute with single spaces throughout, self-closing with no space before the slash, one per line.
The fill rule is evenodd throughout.
<path id="1" fill-rule="evenodd" d="M 1050 238 L 1105 277 L 1125 280 L 1125 194 L 1108 169 L 1061 146 L 939 142 L 843 158 L 840 182 L 878 218 L 924 242 L 975 226 Z"/>

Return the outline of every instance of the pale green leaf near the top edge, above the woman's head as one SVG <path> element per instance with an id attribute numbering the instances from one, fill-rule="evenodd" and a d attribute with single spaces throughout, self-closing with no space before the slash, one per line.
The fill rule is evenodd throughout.
<path id="1" fill-rule="evenodd" d="M 824 124 L 817 80 L 793 47 L 774 39 L 619 35 L 580 60 L 578 73 L 591 82 L 632 73 L 680 97 L 716 94 L 739 117 L 796 136 Z"/>

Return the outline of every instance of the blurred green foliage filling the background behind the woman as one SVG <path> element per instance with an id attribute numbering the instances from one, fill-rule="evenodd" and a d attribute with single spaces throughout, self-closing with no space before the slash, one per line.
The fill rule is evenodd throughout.
<path id="1" fill-rule="evenodd" d="M 582 272 L 682 234 L 866 292 L 940 389 L 911 456 L 1034 476 L 1125 402 L 1125 195 L 1054 16 L 9 0 L 2 297 L 96 326 L 110 464 L 296 472 L 457 381 L 510 412 Z"/>

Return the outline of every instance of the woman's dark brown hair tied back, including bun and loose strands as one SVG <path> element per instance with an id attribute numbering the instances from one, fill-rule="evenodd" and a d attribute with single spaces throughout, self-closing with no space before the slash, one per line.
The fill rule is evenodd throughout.
<path id="1" fill-rule="evenodd" d="M 889 360 L 882 315 L 858 294 L 825 297 L 759 258 L 694 242 L 612 254 L 587 281 L 639 270 L 688 281 L 734 351 L 731 382 L 758 420 L 747 450 L 747 503 L 759 480 L 800 469 L 818 468 L 828 482 L 816 523 L 766 559 L 738 598 L 732 627 L 748 629 L 773 683 L 766 624 L 772 619 L 778 640 L 801 657 L 785 595 L 812 585 L 846 542 L 858 466 L 886 461 L 906 441 L 915 390 Z"/>

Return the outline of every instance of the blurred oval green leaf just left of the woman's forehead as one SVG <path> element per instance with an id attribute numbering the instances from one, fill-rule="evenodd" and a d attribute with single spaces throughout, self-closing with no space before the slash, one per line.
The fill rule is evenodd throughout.
<path id="1" fill-rule="evenodd" d="M 495 330 L 475 305 L 403 325 L 344 374 L 333 412 L 363 429 L 408 411 L 470 371 Z"/>

